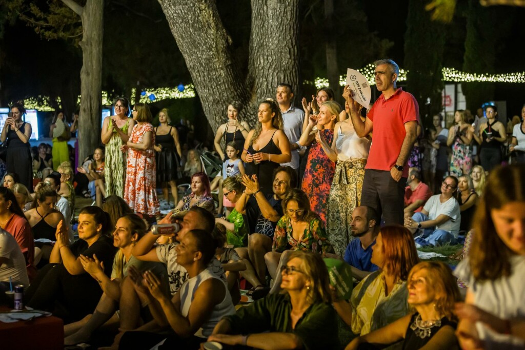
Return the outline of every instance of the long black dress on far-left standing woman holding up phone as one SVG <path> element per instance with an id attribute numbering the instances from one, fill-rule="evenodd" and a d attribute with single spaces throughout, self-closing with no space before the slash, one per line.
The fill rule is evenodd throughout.
<path id="1" fill-rule="evenodd" d="M 20 131 L 25 130 L 26 123 L 20 126 Z M 25 185 L 30 192 L 33 192 L 33 160 L 29 142 L 24 143 L 16 134 L 16 131 L 7 126 L 7 172 L 16 173 L 20 178 L 20 183 Z"/>

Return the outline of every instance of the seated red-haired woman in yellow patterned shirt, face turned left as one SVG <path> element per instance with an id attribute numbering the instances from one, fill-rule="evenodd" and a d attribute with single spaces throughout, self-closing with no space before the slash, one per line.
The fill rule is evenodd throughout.
<path id="1" fill-rule="evenodd" d="M 392 323 L 409 312 L 408 272 L 419 262 L 414 238 L 402 226 L 384 226 L 372 248 L 372 263 L 379 270 L 353 289 L 350 301 L 333 305 L 354 334 L 365 335 Z"/>

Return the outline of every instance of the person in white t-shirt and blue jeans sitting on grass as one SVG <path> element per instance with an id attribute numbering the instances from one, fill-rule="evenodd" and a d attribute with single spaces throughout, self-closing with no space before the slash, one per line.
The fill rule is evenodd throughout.
<path id="1" fill-rule="evenodd" d="M 405 227 L 416 234 L 416 245 L 456 244 L 461 224 L 459 204 L 454 197 L 457 188 L 455 176 L 445 177 L 441 194 L 430 197 L 421 212 L 405 218 Z"/>

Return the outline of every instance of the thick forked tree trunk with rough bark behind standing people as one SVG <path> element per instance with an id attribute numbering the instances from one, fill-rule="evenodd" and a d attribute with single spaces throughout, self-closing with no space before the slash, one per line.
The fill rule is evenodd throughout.
<path id="1" fill-rule="evenodd" d="M 212 129 L 226 120 L 230 100 L 245 108 L 240 116 L 256 123 L 257 103 L 275 97 L 279 82 L 298 88 L 299 0 L 252 0 L 248 76 L 232 54 L 232 39 L 215 0 L 159 0 Z"/>

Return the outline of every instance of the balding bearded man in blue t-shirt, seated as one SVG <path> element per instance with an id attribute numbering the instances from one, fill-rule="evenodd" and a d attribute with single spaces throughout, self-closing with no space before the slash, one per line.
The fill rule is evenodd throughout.
<path id="1" fill-rule="evenodd" d="M 353 239 L 346 247 L 344 261 L 352 267 L 352 276 L 356 280 L 362 280 L 370 272 L 377 270 L 370 259 L 372 246 L 379 234 L 379 225 L 380 220 L 374 208 L 360 206 L 352 211 L 352 236 L 359 239 Z"/>

